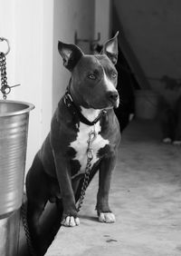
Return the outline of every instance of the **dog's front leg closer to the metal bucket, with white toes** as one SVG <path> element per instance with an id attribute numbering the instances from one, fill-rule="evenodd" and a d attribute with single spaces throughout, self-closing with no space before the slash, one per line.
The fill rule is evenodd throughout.
<path id="1" fill-rule="evenodd" d="M 60 153 L 54 153 L 54 160 L 63 204 L 62 225 L 74 227 L 80 224 L 80 220 L 77 217 L 75 197 L 71 186 L 71 165 Z"/>

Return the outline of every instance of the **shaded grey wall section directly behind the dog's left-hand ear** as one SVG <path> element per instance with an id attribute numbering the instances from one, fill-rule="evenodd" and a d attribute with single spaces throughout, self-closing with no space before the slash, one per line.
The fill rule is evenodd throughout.
<path id="1" fill-rule="evenodd" d="M 53 84 L 52 108 L 55 109 L 60 97 L 69 83 L 70 74 L 62 65 L 58 54 L 58 40 L 74 44 L 74 34 L 79 38 L 94 36 L 94 1 L 93 0 L 55 0 L 53 34 Z M 87 50 L 87 45 L 79 44 Z"/>

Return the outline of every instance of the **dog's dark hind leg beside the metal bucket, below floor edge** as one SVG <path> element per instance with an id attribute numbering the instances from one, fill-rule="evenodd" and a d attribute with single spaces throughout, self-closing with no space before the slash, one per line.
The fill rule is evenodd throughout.
<path id="1" fill-rule="evenodd" d="M 49 199 L 48 186 L 48 177 L 43 171 L 43 164 L 38 154 L 36 154 L 33 165 L 26 176 L 26 193 L 28 200 L 27 222 L 33 241 L 33 247 L 38 251 L 38 255 L 43 255 L 40 251 L 40 244 L 43 237 L 41 216 Z"/>

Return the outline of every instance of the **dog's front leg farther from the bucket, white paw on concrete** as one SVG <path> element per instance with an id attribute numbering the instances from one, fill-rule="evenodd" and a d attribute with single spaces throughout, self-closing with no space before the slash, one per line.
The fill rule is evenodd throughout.
<path id="1" fill-rule="evenodd" d="M 109 193 L 111 174 L 115 167 L 116 157 L 114 154 L 107 156 L 100 162 L 99 191 L 97 194 L 97 206 L 99 222 L 115 222 L 115 215 L 110 211 Z"/>

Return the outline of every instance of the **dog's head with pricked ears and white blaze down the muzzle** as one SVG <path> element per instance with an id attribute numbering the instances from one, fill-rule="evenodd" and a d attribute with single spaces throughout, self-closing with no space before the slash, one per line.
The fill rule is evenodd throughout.
<path id="1" fill-rule="evenodd" d="M 75 44 L 59 41 L 63 65 L 71 72 L 71 96 L 86 108 L 119 106 L 117 86 L 118 32 L 103 44 L 100 54 L 83 54 Z"/>

